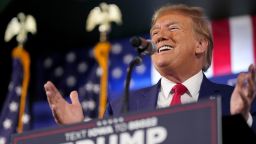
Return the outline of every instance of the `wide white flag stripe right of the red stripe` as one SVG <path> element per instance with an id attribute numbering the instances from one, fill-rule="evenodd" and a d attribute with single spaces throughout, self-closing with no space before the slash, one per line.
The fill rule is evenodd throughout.
<path id="1" fill-rule="evenodd" d="M 247 70 L 253 63 L 252 23 L 250 16 L 230 18 L 232 73 Z"/>

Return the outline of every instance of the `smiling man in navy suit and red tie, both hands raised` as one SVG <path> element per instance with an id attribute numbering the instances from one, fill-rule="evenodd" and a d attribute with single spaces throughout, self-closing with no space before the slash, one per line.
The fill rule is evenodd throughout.
<path id="1" fill-rule="evenodd" d="M 154 14 L 150 34 L 157 47 L 152 61 L 162 78 L 152 87 L 131 93 L 129 111 L 153 110 L 221 96 L 223 114 L 242 114 L 256 131 L 256 107 L 253 105 L 256 67 L 250 65 L 247 73 L 238 76 L 235 89 L 212 83 L 205 77 L 203 72 L 211 65 L 213 41 L 202 9 L 185 5 L 164 6 Z M 51 82 L 44 87 L 57 123 L 83 121 L 76 91 L 71 92 L 72 104 L 69 104 Z M 119 115 L 122 105 L 122 98 L 109 99 L 105 116 Z"/>

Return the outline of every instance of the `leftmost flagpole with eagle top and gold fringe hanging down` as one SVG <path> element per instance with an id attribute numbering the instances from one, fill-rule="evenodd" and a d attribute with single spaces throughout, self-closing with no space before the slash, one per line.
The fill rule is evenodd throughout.
<path id="1" fill-rule="evenodd" d="M 37 32 L 36 28 L 37 25 L 35 18 L 32 15 L 25 15 L 23 12 L 20 12 L 18 13 L 17 17 L 12 18 L 12 20 L 8 23 L 4 35 L 5 42 L 9 42 L 13 37 L 16 37 L 18 46 L 12 50 L 12 59 L 13 61 L 20 61 L 23 71 L 17 126 L 18 133 L 23 132 L 27 90 L 30 79 L 30 56 L 23 46 L 27 41 L 27 34 L 35 34 Z"/>

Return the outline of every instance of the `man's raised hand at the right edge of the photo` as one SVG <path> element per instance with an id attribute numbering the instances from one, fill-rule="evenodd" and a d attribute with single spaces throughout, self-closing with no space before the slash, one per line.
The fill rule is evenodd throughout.
<path id="1" fill-rule="evenodd" d="M 231 96 L 231 114 L 242 114 L 246 120 L 248 120 L 251 104 L 256 94 L 255 72 L 256 66 L 251 64 L 248 72 L 240 73 Z"/>

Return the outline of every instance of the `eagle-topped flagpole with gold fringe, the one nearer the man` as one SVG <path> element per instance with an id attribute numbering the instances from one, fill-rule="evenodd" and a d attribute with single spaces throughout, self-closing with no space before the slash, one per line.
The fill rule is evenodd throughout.
<path id="1" fill-rule="evenodd" d="M 114 16 L 113 16 L 114 15 Z M 100 98 L 98 117 L 103 118 L 107 104 L 108 93 L 108 58 L 111 44 L 107 41 L 107 34 L 111 31 L 111 22 L 122 23 L 120 9 L 115 4 L 100 3 L 98 7 L 93 8 L 86 21 L 86 30 L 92 31 L 99 25 L 100 42 L 94 48 L 94 56 L 98 61 L 101 70 Z"/>

